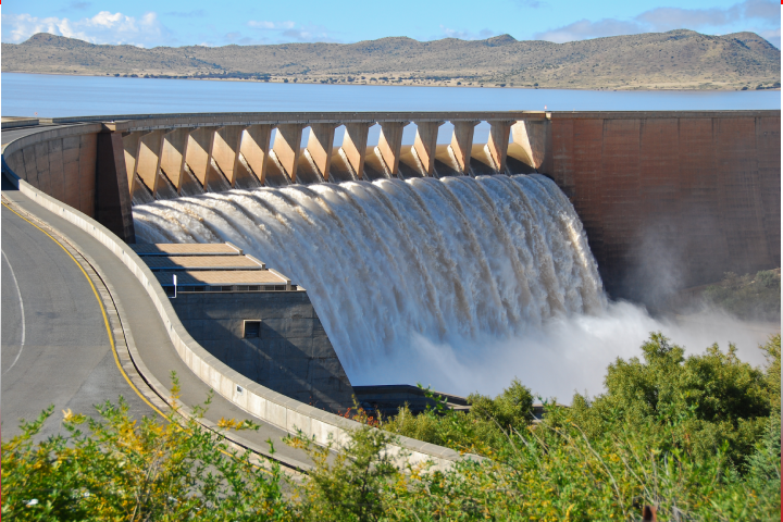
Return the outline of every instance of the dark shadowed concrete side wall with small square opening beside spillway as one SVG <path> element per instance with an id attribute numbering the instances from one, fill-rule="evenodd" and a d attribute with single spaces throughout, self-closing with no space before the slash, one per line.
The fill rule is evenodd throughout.
<path id="1" fill-rule="evenodd" d="M 343 412 L 353 389 L 304 290 L 178 293 L 170 301 L 207 351 L 254 383 L 301 402 Z M 247 338 L 245 320 L 260 320 Z"/>

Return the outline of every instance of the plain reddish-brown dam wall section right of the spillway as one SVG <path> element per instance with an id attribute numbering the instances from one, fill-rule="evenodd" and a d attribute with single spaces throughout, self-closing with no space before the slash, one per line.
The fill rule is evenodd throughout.
<path id="1" fill-rule="evenodd" d="M 780 111 L 554 113 L 540 170 L 569 196 L 610 295 L 780 266 Z"/>

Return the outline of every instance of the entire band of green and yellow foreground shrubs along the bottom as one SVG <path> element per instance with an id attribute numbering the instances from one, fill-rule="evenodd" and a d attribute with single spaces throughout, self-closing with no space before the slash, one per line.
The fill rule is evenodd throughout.
<path id="1" fill-rule="evenodd" d="M 69 437 L 33 444 L 40 423 L 2 445 L 2 514 L 15 520 L 778 520 L 781 508 L 781 338 L 762 347 L 766 369 L 717 346 L 685 357 L 660 334 L 642 358 L 618 359 L 606 393 L 576 395 L 531 418 L 532 394 L 514 381 L 498 397 L 471 396 L 470 412 L 443 402 L 401 409 L 362 427 L 333 457 L 303 436 L 314 469 L 289 482 L 197 423 L 161 425 L 102 406 L 102 421 L 65 412 Z M 232 426 L 225 421 L 224 426 Z M 376 430 L 381 425 L 386 431 Z M 252 426 L 238 426 L 252 427 Z M 398 435 L 480 453 L 448 471 L 405 467 Z M 333 444 L 335 446 L 335 444 Z M 33 500 L 36 502 L 33 502 Z"/>

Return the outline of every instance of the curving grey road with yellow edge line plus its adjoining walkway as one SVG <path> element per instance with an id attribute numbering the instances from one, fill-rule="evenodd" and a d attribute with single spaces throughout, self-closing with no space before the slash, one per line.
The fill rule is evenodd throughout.
<path id="1" fill-rule="evenodd" d="M 48 128 L 51 127 L 3 132 L 2 142 Z M 92 405 L 116 402 L 120 396 L 128 402 L 134 418 L 162 419 L 160 412 L 170 410 L 133 364 L 127 363 L 127 353 L 121 351 L 127 351 L 125 341 L 135 345 L 151 376 L 165 383 L 166 389 L 171 382 L 169 372 L 177 373 L 184 405 L 204 401 L 210 388 L 182 362 L 160 315 L 124 264 L 84 231 L 30 201 L 4 175 L 2 203 L 3 438 L 20 433 L 20 419 L 33 420 L 50 405 L 54 405 L 54 413 L 45 424 L 41 437 L 59 431 L 60 410 L 95 415 Z M 92 284 L 87 272 L 96 279 Z M 111 288 L 111 296 L 105 286 L 100 287 L 101 282 Z M 102 297 L 109 297 L 104 300 L 110 306 L 112 300 L 119 301 L 120 318 L 105 307 L 107 315 L 115 323 L 109 330 L 114 335 L 117 358 L 92 285 Z M 127 324 L 116 324 L 119 319 Z M 221 418 L 248 419 L 261 425 L 258 432 L 233 436 L 239 446 L 269 455 L 265 442 L 271 439 L 275 460 L 291 469 L 309 468 L 302 451 L 282 442 L 287 435 L 285 431 L 215 395 L 204 425 L 213 426 Z"/>

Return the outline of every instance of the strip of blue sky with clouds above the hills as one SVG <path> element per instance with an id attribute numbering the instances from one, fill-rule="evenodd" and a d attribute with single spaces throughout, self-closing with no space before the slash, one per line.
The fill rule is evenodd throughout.
<path id="1" fill-rule="evenodd" d="M 5 0 L 2 41 L 46 32 L 140 47 L 484 39 L 505 33 L 562 42 L 688 28 L 714 35 L 751 30 L 780 48 L 778 9 L 770 0 Z"/>

